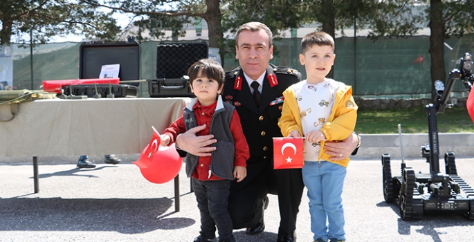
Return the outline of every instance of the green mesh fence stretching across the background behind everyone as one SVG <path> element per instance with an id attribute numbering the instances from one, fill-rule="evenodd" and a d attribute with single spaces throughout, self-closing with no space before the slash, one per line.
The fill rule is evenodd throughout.
<path id="1" fill-rule="evenodd" d="M 446 74 L 459 66 L 464 53 L 472 53 L 474 35 L 446 39 Z M 291 66 L 304 74 L 300 65 L 301 39 L 275 39 L 274 58 L 278 66 Z M 140 43 L 140 79 L 156 78 L 156 46 L 159 41 Z M 75 79 L 79 76 L 81 43 L 44 44 L 33 48 L 33 80 L 30 48 L 14 44 L 14 89 L 40 89 L 43 80 Z M 429 37 L 379 39 L 364 37 L 336 39 L 334 79 L 352 85 L 354 95 L 364 97 L 430 97 Z M 235 55 L 226 55 L 224 68 L 238 66 Z M 443 80 L 446 81 L 446 80 Z M 147 96 L 147 83 L 140 84 L 140 96 Z M 456 95 L 466 95 L 464 85 L 457 82 Z"/>

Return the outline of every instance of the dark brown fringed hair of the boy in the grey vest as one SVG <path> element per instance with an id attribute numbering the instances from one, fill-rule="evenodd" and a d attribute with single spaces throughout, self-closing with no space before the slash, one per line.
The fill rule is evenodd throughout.
<path id="1" fill-rule="evenodd" d="M 224 85 L 224 79 L 226 77 L 226 73 L 224 72 L 224 68 L 222 68 L 219 62 L 216 62 L 214 59 L 199 59 L 199 61 L 194 62 L 188 70 L 188 77 L 190 77 L 190 84 L 196 80 L 197 75 L 199 75 L 199 71 L 201 71 L 201 75 L 208 77 L 208 79 L 215 80 L 219 83 L 219 88 Z"/>

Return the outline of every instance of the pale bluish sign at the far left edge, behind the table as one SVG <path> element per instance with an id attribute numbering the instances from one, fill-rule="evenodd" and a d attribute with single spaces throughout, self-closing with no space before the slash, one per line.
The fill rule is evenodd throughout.
<path id="1" fill-rule="evenodd" d="M 13 88 L 13 46 L 0 46 L 0 90 Z"/>

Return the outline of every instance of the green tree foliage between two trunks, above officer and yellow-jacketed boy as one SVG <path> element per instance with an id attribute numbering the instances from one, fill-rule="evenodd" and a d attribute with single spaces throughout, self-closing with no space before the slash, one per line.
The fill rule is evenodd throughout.
<path id="1" fill-rule="evenodd" d="M 274 32 L 320 24 L 320 30 L 336 37 L 336 30 L 359 26 L 372 28 L 369 37 L 407 37 L 418 27 L 405 1 L 379 0 L 239 0 L 228 4 L 224 29 L 234 32 L 246 21 L 262 21 Z M 344 33 L 344 32 L 343 32 Z M 232 48 L 232 43 L 229 45 Z M 333 77 L 334 68 L 328 74 Z"/>

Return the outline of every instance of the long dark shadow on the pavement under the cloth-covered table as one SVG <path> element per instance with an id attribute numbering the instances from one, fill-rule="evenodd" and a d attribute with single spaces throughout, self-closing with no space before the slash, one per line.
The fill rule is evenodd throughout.
<path id="1" fill-rule="evenodd" d="M 196 223 L 191 218 L 165 218 L 169 198 L 64 199 L 0 198 L 3 231 L 116 231 L 138 234 L 176 230 Z"/>

